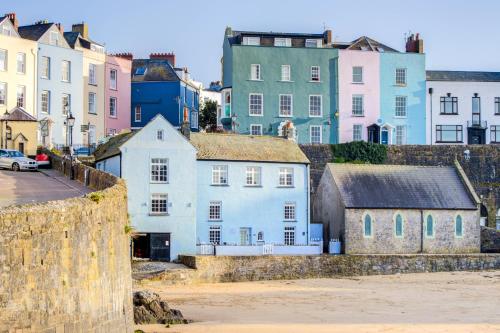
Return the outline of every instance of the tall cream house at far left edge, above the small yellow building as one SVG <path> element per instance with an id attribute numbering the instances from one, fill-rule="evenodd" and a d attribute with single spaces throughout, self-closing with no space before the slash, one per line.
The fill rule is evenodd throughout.
<path id="1" fill-rule="evenodd" d="M 17 28 L 16 14 L 0 17 L 0 116 L 18 106 L 36 116 L 37 43 Z"/>

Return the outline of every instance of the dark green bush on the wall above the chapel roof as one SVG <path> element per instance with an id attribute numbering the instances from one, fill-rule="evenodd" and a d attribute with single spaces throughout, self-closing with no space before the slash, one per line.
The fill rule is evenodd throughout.
<path id="1" fill-rule="evenodd" d="M 387 159 L 387 146 L 378 143 L 355 141 L 331 145 L 335 163 L 356 162 L 382 164 Z"/>

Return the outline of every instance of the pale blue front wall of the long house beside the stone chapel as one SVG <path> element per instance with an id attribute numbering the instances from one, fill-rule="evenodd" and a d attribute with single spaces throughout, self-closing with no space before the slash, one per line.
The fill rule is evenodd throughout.
<path id="1" fill-rule="evenodd" d="M 228 166 L 229 186 L 212 185 L 212 166 Z M 246 167 L 262 170 L 262 186 L 247 187 Z M 294 169 L 294 187 L 281 188 L 279 168 Z M 240 228 L 251 228 L 251 242 L 264 232 L 266 243 L 283 244 L 285 226 L 295 226 L 295 243 L 307 244 L 309 221 L 309 169 L 305 164 L 206 161 L 198 169 L 197 241 L 209 243 L 209 227 L 221 226 L 221 244 L 240 244 Z M 210 201 L 222 202 L 222 221 L 208 219 Z M 284 204 L 296 205 L 296 222 L 284 222 Z"/>

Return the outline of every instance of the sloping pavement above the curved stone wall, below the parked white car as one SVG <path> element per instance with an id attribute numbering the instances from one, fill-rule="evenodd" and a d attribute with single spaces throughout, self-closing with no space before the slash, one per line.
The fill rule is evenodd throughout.
<path id="1" fill-rule="evenodd" d="M 0 170 L 0 208 L 79 197 L 89 192 L 92 190 L 53 169 Z"/>

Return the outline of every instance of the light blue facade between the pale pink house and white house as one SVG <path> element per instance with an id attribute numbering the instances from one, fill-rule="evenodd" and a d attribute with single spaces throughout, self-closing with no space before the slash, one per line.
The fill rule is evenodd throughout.
<path id="1" fill-rule="evenodd" d="M 396 68 L 406 68 L 406 86 L 396 85 Z M 380 118 L 382 124 L 406 125 L 407 144 L 426 142 L 425 54 L 380 53 Z M 395 116 L 396 96 L 407 96 L 407 117 Z M 392 132 L 392 143 L 396 132 Z"/>

